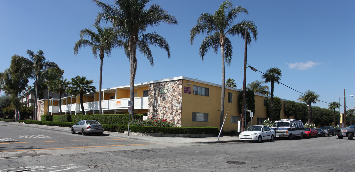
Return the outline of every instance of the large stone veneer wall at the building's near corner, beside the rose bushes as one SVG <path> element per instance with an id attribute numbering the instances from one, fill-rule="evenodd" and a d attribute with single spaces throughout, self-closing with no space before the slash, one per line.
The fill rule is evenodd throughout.
<path id="1" fill-rule="evenodd" d="M 150 84 L 148 94 L 148 118 L 174 120 L 174 126 L 181 127 L 182 79 Z"/>

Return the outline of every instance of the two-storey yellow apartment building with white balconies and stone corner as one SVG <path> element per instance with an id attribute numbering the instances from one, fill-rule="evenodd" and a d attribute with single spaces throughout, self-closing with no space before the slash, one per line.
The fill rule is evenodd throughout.
<path id="1" fill-rule="evenodd" d="M 174 77 L 149 81 L 134 85 L 134 112 L 144 118 L 163 118 L 174 121 L 177 127 L 220 125 L 221 85 L 188 77 Z M 103 89 L 103 114 L 128 113 L 129 85 Z M 237 130 L 241 114 L 238 107 L 238 95 L 242 90 L 225 87 L 223 130 Z M 80 96 L 67 96 L 62 99 L 63 114 L 81 114 Z M 255 93 L 255 113 L 252 125 L 261 124 L 267 119 L 267 99 L 269 96 Z M 286 119 L 284 103 L 280 119 Z M 47 115 L 47 100 L 39 100 L 38 119 Z M 83 97 L 86 114 L 99 113 L 99 91 Z M 59 99 L 50 99 L 49 114 L 59 114 Z M 250 118 L 247 113 L 247 118 Z M 291 117 L 293 118 L 293 117 Z M 249 124 L 248 124 L 249 125 Z"/>

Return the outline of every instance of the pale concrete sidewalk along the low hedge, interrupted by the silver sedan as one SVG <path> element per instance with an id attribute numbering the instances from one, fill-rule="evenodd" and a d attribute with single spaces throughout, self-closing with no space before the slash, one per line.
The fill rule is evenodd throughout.
<path id="1" fill-rule="evenodd" d="M 37 127 L 48 130 L 66 131 L 71 132 L 68 127 L 58 127 L 58 126 L 47 126 L 47 125 L 37 125 L 37 124 L 23 124 L 23 123 L 11 123 L 13 125 L 24 125 Z M 238 136 L 220 136 L 218 137 L 153 137 L 153 136 L 135 136 L 127 135 L 119 132 L 105 131 L 102 135 L 109 135 L 113 137 L 121 137 L 127 139 L 135 139 L 149 142 L 159 142 L 159 143 L 227 143 L 227 142 L 240 142 Z"/>

